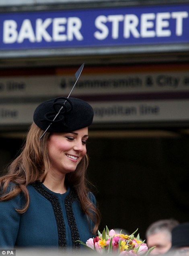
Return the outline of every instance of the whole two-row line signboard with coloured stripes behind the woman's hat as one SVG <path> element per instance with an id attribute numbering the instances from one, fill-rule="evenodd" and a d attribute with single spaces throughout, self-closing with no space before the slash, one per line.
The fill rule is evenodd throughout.
<path id="1" fill-rule="evenodd" d="M 0 77 L 0 125 L 30 124 L 39 98 L 68 96 L 74 83 L 74 75 L 61 69 L 54 75 Z M 189 121 L 188 67 L 86 68 L 71 96 L 91 103 L 94 123 Z"/>

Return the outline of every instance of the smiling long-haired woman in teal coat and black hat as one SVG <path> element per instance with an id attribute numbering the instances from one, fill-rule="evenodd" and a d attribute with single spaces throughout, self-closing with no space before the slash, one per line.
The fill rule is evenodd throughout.
<path id="1" fill-rule="evenodd" d="M 94 236 L 100 220 L 85 177 L 92 107 L 60 97 L 40 104 L 33 119 L 0 178 L 0 248 L 80 248 L 77 240 Z"/>

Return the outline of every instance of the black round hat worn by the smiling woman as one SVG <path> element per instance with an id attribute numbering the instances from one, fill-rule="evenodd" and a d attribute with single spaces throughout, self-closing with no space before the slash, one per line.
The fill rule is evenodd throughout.
<path id="1" fill-rule="evenodd" d="M 61 109 L 61 110 L 60 110 Z M 42 130 L 70 132 L 92 124 L 93 109 L 77 98 L 60 97 L 41 103 L 33 114 L 33 121 Z"/>

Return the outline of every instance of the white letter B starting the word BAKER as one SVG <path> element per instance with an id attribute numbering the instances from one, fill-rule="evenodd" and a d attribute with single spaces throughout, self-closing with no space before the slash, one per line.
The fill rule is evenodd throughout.
<path id="1" fill-rule="evenodd" d="M 18 32 L 16 31 L 17 23 L 13 20 L 6 20 L 3 23 L 3 42 L 4 44 L 12 44 L 16 42 Z"/>

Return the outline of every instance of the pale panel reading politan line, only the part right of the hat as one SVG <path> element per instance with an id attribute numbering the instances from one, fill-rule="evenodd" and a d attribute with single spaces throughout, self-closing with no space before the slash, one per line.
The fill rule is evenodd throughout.
<path id="1" fill-rule="evenodd" d="M 95 122 L 189 121 L 189 101 L 92 103 Z M 187 112 L 187 114 L 186 114 Z"/>

